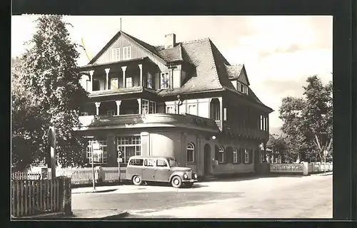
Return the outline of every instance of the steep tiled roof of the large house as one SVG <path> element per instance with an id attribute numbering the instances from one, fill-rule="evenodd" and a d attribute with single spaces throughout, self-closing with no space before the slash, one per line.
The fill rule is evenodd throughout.
<path id="1" fill-rule="evenodd" d="M 177 43 L 173 48 L 165 49 L 162 46 L 151 46 L 149 43 L 145 43 L 134 36 L 119 31 L 119 33 L 106 44 L 94 59 L 100 56 L 101 53 L 105 51 L 117 37 L 119 37 L 120 33 L 124 34 L 124 36 L 128 36 L 136 43 L 139 43 L 139 45 L 151 51 L 163 61 L 166 61 L 166 63 L 172 61 L 186 61 L 195 66 L 196 71 L 189 72 L 191 75 L 188 75 L 188 81 L 186 81 L 181 88 L 156 90 L 158 95 L 164 96 L 177 95 L 180 93 L 228 90 L 236 95 L 246 96 L 239 93 L 230 81 L 230 79 L 238 78 L 243 70 L 243 65 L 231 66 L 209 38 Z M 91 62 L 94 62 L 94 59 L 92 59 Z M 246 98 L 253 103 L 258 103 L 259 105 L 268 108 L 256 97 L 251 88 L 248 88 L 248 96 L 246 96 Z"/>

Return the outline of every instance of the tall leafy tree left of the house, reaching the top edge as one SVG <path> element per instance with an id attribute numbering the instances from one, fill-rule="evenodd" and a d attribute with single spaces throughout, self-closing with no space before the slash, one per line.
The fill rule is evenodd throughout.
<path id="1" fill-rule="evenodd" d="M 43 136 L 33 145 L 39 147 L 39 154 L 49 153 L 46 131 L 54 126 L 59 164 L 82 165 L 84 141 L 74 128 L 79 127 L 79 106 L 87 94 L 76 71 L 77 44 L 71 42 L 62 16 L 41 16 L 36 23 L 37 31 L 28 42 L 31 48 L 21 56 L 23 84 L 38 104 L 33 115 L 45 120 Z"/>

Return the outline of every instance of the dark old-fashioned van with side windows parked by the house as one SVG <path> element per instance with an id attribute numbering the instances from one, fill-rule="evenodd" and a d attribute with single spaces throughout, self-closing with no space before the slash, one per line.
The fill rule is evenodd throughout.
<path id="1" fill-rule="evenodd" d="M 192 186 L 197 182 L 196 173 L 189 167 L 181 167 L 173 157 L 133 156 L 126 167 L 126 180 L 134 185 L 143 182 L 169 182 L 172 187 Z"/>

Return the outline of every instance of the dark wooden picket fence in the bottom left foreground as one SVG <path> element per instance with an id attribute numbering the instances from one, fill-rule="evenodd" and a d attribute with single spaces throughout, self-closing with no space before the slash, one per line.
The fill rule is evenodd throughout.
<path id="1" fill-rule="evenodd" d="M 12 180 L 11 181 L 11 215 L 26 217 L 38 214 L 65 212 L 64 202 L 71 204 L 70 180 Z M 71 210 L 71 209 L 69 209 Z"/>

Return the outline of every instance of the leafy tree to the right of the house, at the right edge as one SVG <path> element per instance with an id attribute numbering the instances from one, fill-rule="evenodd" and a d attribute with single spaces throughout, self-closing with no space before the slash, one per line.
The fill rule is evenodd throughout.
<path id="1" fill-rule="evenodd" d="M 308 77 L 304 98 L 283 98 L 279 113 L 288 151 L 301 160 L 322 160 L 332 151 L 332 82 L 326 86 L 317 76 Z"/>

